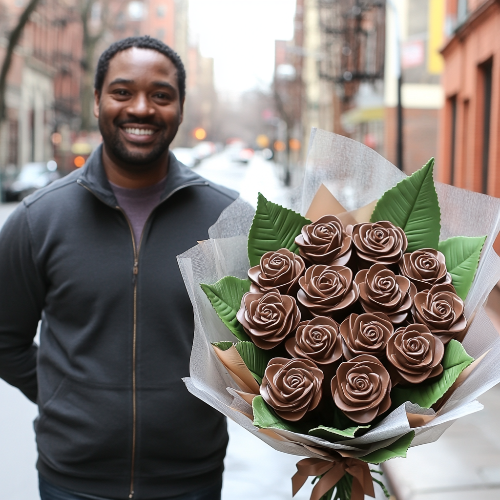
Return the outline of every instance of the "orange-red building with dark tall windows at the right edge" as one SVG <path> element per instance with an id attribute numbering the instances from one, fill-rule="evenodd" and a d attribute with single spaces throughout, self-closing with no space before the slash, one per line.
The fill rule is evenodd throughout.
<path id="1" fill-rule="evenodd" d="M 500 1 L 448 0 L 438 178 L 500 196 Z"/>

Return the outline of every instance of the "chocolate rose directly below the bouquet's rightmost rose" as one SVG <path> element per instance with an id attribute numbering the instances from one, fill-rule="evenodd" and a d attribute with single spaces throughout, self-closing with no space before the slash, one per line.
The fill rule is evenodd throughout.
<path id="1" fill-rule="evenodd" d="M 407 382 L 420 383 L 442 372 L 444 344 L 423 324 L 397 328 L 385 349 L 387 360 Z"/>

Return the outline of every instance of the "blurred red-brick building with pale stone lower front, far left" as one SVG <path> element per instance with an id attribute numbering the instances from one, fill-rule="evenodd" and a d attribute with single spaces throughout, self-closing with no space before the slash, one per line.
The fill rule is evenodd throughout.
<path id="1" fill-rule="evenodd" d="M 19 1 L 2 1 L 2 33 L 12 29 L 23 7 Z M 5 47 L 6 40 L 1 44 L 1 59 Z M 57 123 L 70 123 L 79 111 L 80 54 L 81 28 L 75 8 L 60 0 L 40 3 L 14 50 L 7 77 L 1 167 L 53 157 L 51 133 Z"/>

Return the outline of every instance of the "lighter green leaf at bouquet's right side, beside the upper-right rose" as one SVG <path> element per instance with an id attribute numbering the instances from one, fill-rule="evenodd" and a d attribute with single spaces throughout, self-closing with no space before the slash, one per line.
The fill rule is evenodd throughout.
<path id="1" fill-rule="evenodd" d="M 486 236 L 453 236 L 439 242 L 438 249 L 446 259 L 451 282 L 462 300 L 465 300 L 474 279 L 485 240 Z"/>

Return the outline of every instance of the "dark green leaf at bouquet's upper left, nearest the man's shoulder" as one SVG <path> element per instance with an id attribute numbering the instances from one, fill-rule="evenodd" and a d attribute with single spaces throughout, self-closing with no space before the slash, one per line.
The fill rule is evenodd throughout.
<path id="1" fill-rule="evenodd" d="M 257 265 L 260 257 L 268 251 L 288 248 L 296 251 L 295 236 L 310 220 L 297 212 L 267 201 L 258 193 L 257 210 L 248 233 L 248 260 Z"/>

